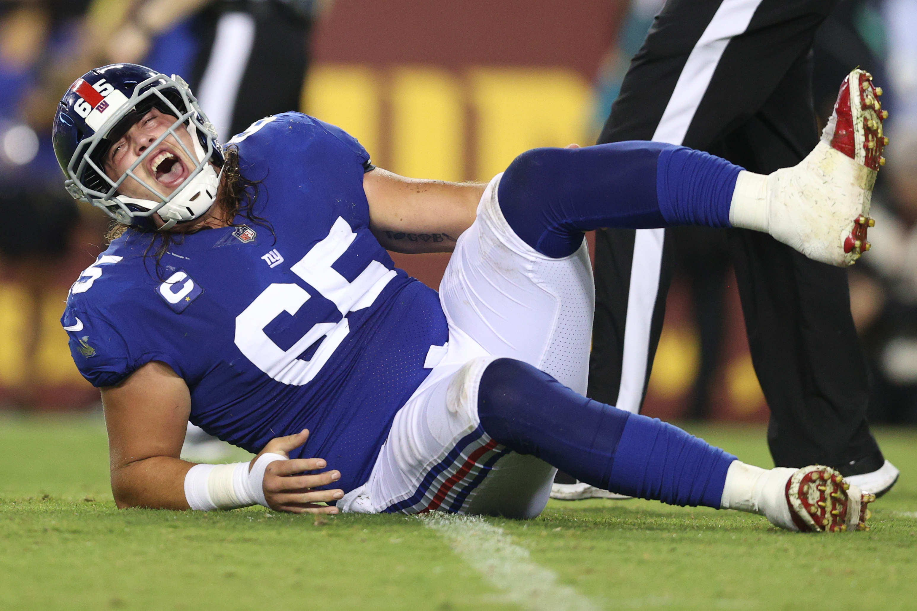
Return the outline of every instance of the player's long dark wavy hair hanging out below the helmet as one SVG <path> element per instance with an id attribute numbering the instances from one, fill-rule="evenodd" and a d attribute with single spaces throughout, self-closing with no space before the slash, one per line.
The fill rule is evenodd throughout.
<path id="1" fill-rule="evenodd" d="M 254 210 L 258 200 L 261 180 L 250 180 L 242 175 L 242 172 L 238 168 L 238 148 L 236 145 L 226 147 L 223 151 L 223 158 L 223 175 L 220 179 L 220 190 L 214 202 L 215 212 L 219 217 L 225 219 L 230 227 L 240 225 L 240 223 L 236 223 L 235 221 L 237 216 L 241 216 L 251 224 L 265 227 L 271 232 L 271 235 L 274 235 L 274 229 L 271 223 L 255 213 Z M 163 274 L 160 266 L 160 259 L 162 256 L 166 254 L 172 245 L 182 244 L 185 235 L 195 234 L 207 228 L 208 227 L 201 227 L 199 223 L 195 223 L 194 221 L 187 221 L 185 223 L 176 224 L 170 231 L 159 232 L 133 227 L 115 221 L 112 222 L 108 227 L 108 231 L 105 233 L 105 244 L 111 244 L 113 240 L 128 232 L 152 234 L 152 239 L 149 240 L 149 245 L 147 245 L 144 256 L 156 260 L 156 275 L 160 279 L 164 279 L 162 278 Z"/>

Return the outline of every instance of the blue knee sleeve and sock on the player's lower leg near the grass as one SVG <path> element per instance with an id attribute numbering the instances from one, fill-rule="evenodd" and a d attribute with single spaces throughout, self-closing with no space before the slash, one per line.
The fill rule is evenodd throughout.
<path id="1" fill-rule="evenodd" d="M 735 456 L 657 419 L 570 390 L 522 361 L 501 358 L 481 376 L 481 427 L 604 490 L 671 505 L 720 507 Z"/>

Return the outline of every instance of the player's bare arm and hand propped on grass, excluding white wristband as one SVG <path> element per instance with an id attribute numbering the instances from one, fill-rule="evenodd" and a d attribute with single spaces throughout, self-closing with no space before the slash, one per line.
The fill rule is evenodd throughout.
<path id="1" fill-rule="evenodd" d="M 179 456 L 191 413 L 191 394 L 182 377 L 170 366 L 152 361 L 122 383 L 103 388 L 102 402 L 116 505 L 189 509 L 184 480 L 194 464 L 182 461 Z M 307 438 L 308 431 L 277 438 L 259 456 L 262 453 L 286 456 Z M 269 464 L 263 479 L 269 507 L 293 513 L 337 513 L 336 507 L 316 503 L 337 500 L 344 496 L 343 491 L 312 488 L 334 483 L 340 478 L 339 472 L 297 475 L 325 466 L 321 458 Z"/>

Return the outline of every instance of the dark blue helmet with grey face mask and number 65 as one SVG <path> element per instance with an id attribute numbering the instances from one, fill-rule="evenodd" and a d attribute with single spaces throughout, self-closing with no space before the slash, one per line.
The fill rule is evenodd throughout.
<path id="1" fill-rule="evenodd" d="M 124 174 L 112 180 L 102 168 L 105 152 L 152 108 L 174 116 L 175 123 Z M 182 127 L 192 136 L 193 151 L 174 133 Z M 196 165 L 175 191 L 162 195 L 138 178 L 134 169 L 168 136 L 174 137 Z M 216 199 L 222 169 L 217 174 L 214 164 L 223 167 L 222 149 L 214 126 L 180 76 L 170 78 L 137 64 L 112 64 L 86 72 L 61 98 L 53 140 L 54 153 L 67 178 L 67 191 L 119 223 L 152 228 L 149 217 L 159 213 L 165 221 L 160 231 L 167 230 L 201 216 Z M 128 176 L 149 191 L 149 199 L 118 194 Z"/>

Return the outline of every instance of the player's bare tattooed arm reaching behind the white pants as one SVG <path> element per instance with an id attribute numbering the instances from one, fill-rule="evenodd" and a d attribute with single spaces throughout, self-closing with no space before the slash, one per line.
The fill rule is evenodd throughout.
<path id="1" fill-rule="evenodd" d="M 363 177 L 370 229 L 396 253 L 450 253 L 472 223 L 487 185 L 409 179 L 376 168 Z"/>

